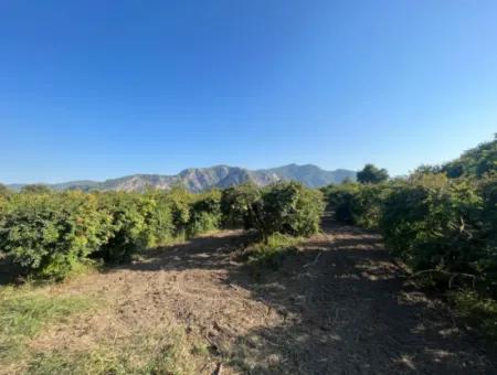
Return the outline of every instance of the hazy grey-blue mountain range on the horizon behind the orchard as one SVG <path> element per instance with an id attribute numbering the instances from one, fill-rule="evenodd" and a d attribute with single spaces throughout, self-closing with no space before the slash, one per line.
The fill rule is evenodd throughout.
<path id="1" fill-rule="evenodd" d="M 247 181 L 264 186 L 281 180 L 299 181 L 310 188 L 340 183 L 345 179 L 356 179 L 356 172 L 350 170 L 325 171 L 313 164 L 288 164 L 279 168 L 251 171 L 237 167 L 215 165 L 211 168 L 190 168 L 177 175 L 134 174 L 104 182 L 73 181 L 51 184 L 54 190 L 119 190 L 144 191 L 147 188 L 168 190 L 176 184 L 183 184 L 192 192 L 212 188 L 229 188 Z M 22 184 L 8 185 L 19 190 Z"/>

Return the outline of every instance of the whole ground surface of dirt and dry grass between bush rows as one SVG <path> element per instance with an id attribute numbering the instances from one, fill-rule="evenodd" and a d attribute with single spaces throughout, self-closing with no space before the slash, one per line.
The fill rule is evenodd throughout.
<path id="1" fill-rule="evenodd" d="M 379 236 L 338 227 L 290 254 L 281 243 L 272 248 L 285 254 L 283 264 L 257 279 L 240 261 L 244 234 L 224 232 L 144 251 L 131 264 L 56 287 L 4 289 L 0 373 L 495 368 L 497 361 L 454 328 L 444 309 L 404 288 Z M 258 250 L 263 258 L 272 253 Z"/>

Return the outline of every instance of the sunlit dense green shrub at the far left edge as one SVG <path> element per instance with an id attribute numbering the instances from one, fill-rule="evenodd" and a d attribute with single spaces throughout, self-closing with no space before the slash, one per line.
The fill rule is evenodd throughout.
<path id="1" fill-rule="evenodd" d="M 93 195 L 15 194 L 0 218 L 0 248 L 24 274 L 61 279 L 105 242 L 108 222 Z"/>

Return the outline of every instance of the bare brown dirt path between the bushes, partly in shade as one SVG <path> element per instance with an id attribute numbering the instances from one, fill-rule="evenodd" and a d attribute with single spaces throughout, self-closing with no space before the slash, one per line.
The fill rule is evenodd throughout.
<path id="1" fill-rule="evenodd" d="M 68 283 L 65 292 L 95 292 L 109 309 L 32 345 L 89 347 L 181 324 L 210 349 L 205 374 L 219 363 L 223 374 L 496 373 L 495 358 L 442 302 L 403 286 L 378 236 L 330 227 L 258 280 L 236 261 L 244 239 L 193 239 Z"/>

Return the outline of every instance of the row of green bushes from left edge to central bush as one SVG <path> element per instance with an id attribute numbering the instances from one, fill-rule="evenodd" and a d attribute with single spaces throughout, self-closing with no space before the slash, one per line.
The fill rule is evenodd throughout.
<path id="1" fill-rule="evenodd" d="M 170 191 L 0 193 L 0 250 L 19 274 L 61 280 L 88 262 L 116 264 L 139 249 L 220 228 L 309 236 L 319 229 L 322 193 L 297 182 L 246 183 L 193 194 Z"/>

